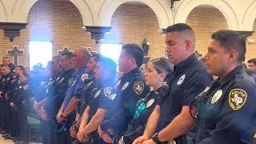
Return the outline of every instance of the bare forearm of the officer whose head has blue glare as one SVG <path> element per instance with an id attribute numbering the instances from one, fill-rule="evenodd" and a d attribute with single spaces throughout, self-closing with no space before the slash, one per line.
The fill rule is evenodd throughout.
<path id="1" fill-rule="evenodd" d="M 98 109 L 93 118 L 90 119 L 90 122 L 82 129 L 84 134 L 90 134 L 94 130 L 98 129 L 98 126 L 102 123 L 106 115 L 106 110 Z"/>

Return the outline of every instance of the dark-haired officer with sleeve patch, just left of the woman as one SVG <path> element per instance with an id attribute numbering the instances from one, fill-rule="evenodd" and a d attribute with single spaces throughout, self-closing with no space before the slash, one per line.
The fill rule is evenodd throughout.
<path id="1" fill-rule="evenodd" d="M 134 117 L 136 102 L 149 92 L 145 78 L 139 67 L 143 62 L 143 50 L 136 44 L 122 46 L 118 59 L 118 69 L 123 74 L 117 87 L 117 97 L 120 108 L 113 117 L 102 122 L 98 133 L 105 142 L 119 141 L 119 136 L 126 130 L 128 123 Z"/>

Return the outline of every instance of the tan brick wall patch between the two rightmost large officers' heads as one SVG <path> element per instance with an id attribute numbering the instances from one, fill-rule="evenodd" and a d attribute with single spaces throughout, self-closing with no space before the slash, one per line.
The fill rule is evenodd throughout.
<path id="1" fill-rule="evenodd" d="M 228 29 L 226 18 L 213 6 L 198 6 L 192 10 L 186 19 L 196 34 L 196 49 L 203 55 L 211 41 L 211 34 L 220 29 Z"/>

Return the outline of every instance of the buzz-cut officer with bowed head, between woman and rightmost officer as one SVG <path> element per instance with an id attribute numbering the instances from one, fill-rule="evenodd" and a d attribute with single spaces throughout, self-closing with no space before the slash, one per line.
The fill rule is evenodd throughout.
<path id="1" fill-rule="evenodd" d="M 165 80 L 169 89 L 162 91 L 144 134 L 134 144 L 162 143 L 173 139 L 178 144 L 186 143 L 184 135 L 193 123 L 190 101 L 210 82 L 206 67 L 194 54 L 194 46 L 195 34 L 190 26 L 178 23 L 167 27 L 166 54 L 174 64 L 174 71 Z"/>

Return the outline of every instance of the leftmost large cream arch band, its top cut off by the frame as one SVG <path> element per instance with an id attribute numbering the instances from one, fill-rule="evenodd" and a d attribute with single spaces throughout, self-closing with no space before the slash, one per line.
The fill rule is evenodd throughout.
<path id="1" fill-rule="evenodd" d="M 18 2 L 14 8 L 14 18 L 15 22 L 26 22 L 30 9 L 38 0 L 25 0 L 23 2 Z M 90 6 L 84 0 L 70 0 L 77 7 L 80 14 L 82 15 L 82 21 L 84 25 L 94 26 L 94 17 Z"/>

